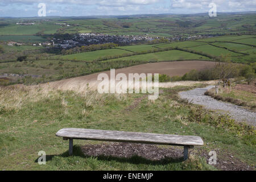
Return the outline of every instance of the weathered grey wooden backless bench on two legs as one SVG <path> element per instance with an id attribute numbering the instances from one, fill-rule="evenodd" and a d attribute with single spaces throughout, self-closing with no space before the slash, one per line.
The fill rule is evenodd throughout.
<path id="1" fill-rule="evenodd" d="M 64 140 L 69 139 L 69 155 L 73 155 L 73 139 L 184 146 L 184 160 L 188 159 L 188 148 L 204 145 L 201 137 L 196 136 L 163 135 L 126 131 L 66 128 L 59 130 L 56 133 L 56 136 L 63 137 Z"/>

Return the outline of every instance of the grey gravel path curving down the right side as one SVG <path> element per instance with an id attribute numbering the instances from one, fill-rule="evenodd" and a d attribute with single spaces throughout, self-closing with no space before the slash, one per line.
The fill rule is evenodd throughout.
<path id="1" fill-rule="evenodd" d="M 205 96 L 204 93 L 214 88 L 214 86 L 207 86 L 206 88 L 196 88 L 187 92 L 180 92 L 181 98 L 187 98 L 193 104 L 205 106 L 207 109 L 223 110 L 228 112 L 236 121 L 245 121 L 250 125 L 256 126 L 256 113 L 243 109 L 241 106 L 233 105 L 228 102 L 214 100 L 210 96 Z"/>

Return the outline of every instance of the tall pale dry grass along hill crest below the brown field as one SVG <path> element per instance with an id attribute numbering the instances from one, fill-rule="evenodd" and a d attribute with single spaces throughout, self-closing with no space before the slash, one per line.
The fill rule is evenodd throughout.
<path id="1" fill-rule="evenodd" d="M 69 90 L 64 89 L 63 91 L 68 92 Z M 73 91 L 73 92 L 72 92 Z M 110 97 L 117 98 L 122 101 L 126 99 L 125 94 L 99 94 L 98 92 L 86 88 L 71 90 L 73 96 L 77 94 L 84 98 L 84 105 L 86 108 L 93 105 L 104 105 L 105 101 L 109 100 Z M 68 107 L 68 102 L 63 98 L 59 90 L 51 88 L 50 86 L 25 86 L 25 85 L 14 85 L 14 86 L 1 86 L 0 87 L 0 109 L 5 110 L 19 110 L 24 104 L 30 102 L 38 102 L 44 99 L 52 99 L 60 97 L 63 108 Z M 86 112 L 85 112 L 86 113 Z M 85 114 L 86 115 L 86 114 Z"/>

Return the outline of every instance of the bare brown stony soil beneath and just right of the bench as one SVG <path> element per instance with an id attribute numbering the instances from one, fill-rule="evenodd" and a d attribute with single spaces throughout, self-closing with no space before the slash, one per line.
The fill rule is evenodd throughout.
<path id="1" fill-rule="evenodd" d="M 183 148 L 168 146 L 159 147 L 151 144 L 137 144 L 137 143 L 117 143 L 117 142 L 105 142 L 102 144 L 86 144 L 81 147 L 85 156 L 105 156 L 115 158 L 131 158 L 132 156 L 141 156 L 144 159 L 157 162 L 165 158 L 171 158 L 174 160 L 183 160 Z M 248 166 L 245 162 L 232 156 L 228 151 L 220 152 L 218 148 L 214 151 L 217 153 L 217 164 L 214 165 L 219 170 L 224 171 L 252 171 L 253 167 Z M 210 156 L 209 151 L 201 150 L 200 148 L 194 148 L 190 151 L 191 155 L 200 155 L 205 158 L 206 162 Z"/>

